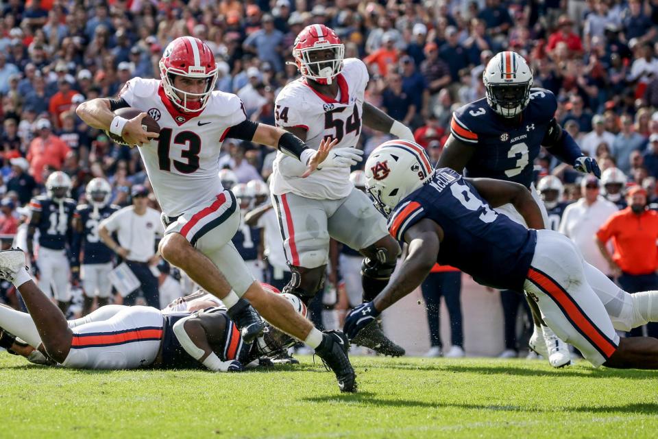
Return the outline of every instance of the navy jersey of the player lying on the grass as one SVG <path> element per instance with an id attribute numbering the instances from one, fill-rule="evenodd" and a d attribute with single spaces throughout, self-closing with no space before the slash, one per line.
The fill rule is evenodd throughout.
<path id="1" fill-rule="evenodd" d="M 244 343 L 240 331 L 228 318 L 226 309 L 210 308 L 204 312 L 219 313 L 226 320 L 226 326 L 219 346 L 212 346 L 221 361 L 237 359 L 243 365 L 256 359 L 252 355 L 254 344 Z M 189 313 L 175 313 L 164 316 L 164 335 L 162 336 L 162 364 L 163 369 L 205 369 L 206 367 L 191 357 L 180 345 L 178 337 L 173 333 L 173 325 L 178 320 L 189 316 Z M 218 352 L 219 351 L 219 352 Z M 253 357 L 253 358 L 252 358 Z"/>

